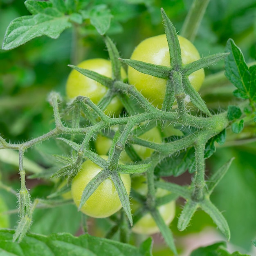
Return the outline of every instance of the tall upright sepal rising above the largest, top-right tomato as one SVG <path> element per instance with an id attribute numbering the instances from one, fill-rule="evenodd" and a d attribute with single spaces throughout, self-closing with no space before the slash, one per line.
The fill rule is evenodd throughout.
<path id="1" fill-rule="evenodd" d="M 177 32 L 171 20 L 167 17 L 163 8 L 161 8 L 162 18 L 164 22 L 164 30 L 166 34 L 166 39 L 169 47 L 170 63 L 172 68 L 177 71 L 181 70 L 182 59 L 181 59 L 181 49 L 180 42 L 177 36 Z"/>

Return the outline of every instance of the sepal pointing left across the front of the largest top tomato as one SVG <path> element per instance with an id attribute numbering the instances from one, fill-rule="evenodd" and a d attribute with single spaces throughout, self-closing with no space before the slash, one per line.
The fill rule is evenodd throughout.
<path id="1" fill-rule="evenodd" d="M 133 67 L 135 70 L 151 76 L 168 79 L 171 73 L 171 67 L 146 63 L 143 61 L 124 59 L 124 58 L 119 58 L 119 60 L 123 63 L 126 63 L 130 67 Z"/>

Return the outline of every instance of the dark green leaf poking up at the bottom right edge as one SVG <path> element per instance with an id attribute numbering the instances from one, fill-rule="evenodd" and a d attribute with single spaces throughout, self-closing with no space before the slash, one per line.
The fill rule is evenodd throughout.
<path id="1" fill-rule="evenodd" d="M 190 256 L 249 256 L 247 254 L 240 254 L 239 252 L 234 252 L 230 254 L 227 251 L 227 245 L 225 242 L 215 243 L 213 245 L 208 245 L 206 247 L 200 247 L 195 249 Z"/>

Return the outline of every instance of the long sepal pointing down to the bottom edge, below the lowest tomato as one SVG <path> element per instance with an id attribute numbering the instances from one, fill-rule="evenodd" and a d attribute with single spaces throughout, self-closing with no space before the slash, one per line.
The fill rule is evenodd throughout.
<path id="1" fill-rule="evenodd" d="M 155 223 L 157 224 L 157 226 L 159 227 L 165 243 L 173 251 L 173 253 L 175 255 L 177 255 L 177 249 L 175 247 L 171 229 L 169 229 L 169 227 L 165 224 L 162 216 L 160 215 L 160 213 L 157 209 L 150 210 L 150 214 L 152 215 L 153 219 L 155 220 Z"/>

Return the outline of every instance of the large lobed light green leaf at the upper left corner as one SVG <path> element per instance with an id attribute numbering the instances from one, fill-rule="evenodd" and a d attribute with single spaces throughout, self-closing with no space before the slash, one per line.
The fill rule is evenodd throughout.
<path id="1" fill-rule="evenodd" d="M 2 49 L 16 48 L 39 36 L 56 39 L 63 30 L 71 27 L 68 19 L 54 8 L 47 9 L 45 13 L 16 18 L 7 27 Z"/>

